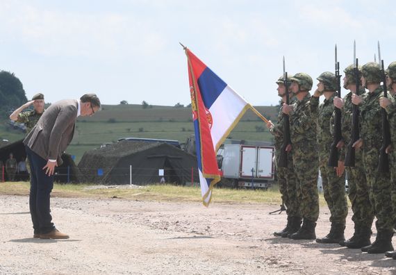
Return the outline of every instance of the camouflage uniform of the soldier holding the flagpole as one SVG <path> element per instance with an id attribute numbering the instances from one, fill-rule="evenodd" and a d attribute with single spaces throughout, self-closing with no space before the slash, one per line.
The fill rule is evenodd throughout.
<path id="1" fill-rule="evenodd" d="M 283 122 L 284 114 L 279 111 L 278 122 L 271 128 L 270 133 L 274 135 L 275 140 L 275 158 L 277 165 L 279 161 L 281 147 L 283 145 Z M 288 167 L 277 166 L 277 178 L 279 191 L 281 192 L 282 201 L 286 206 L 286 214 L 290 217 L 301 217 L 299 213 L 297 178 L 293 169 L 292 153 L 288 153 Z"/>

